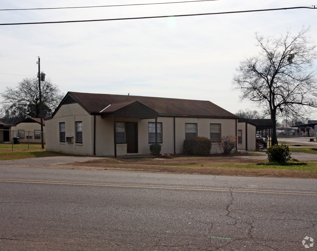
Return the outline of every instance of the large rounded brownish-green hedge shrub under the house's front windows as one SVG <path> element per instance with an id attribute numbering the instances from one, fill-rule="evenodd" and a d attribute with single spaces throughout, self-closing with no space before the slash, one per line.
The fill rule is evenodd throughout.
<path id="1" fill-rule="evenodd" d="M 198 156 L 210 155 L 211 140 L 206 137 L 186 138 L 183 143 L 183 153 Z"/>

